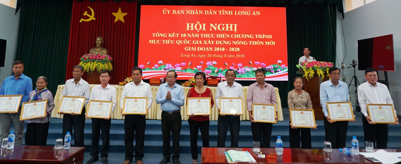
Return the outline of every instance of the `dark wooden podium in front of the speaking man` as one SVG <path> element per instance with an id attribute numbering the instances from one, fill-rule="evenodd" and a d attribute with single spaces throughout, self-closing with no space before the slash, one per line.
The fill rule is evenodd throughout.
<path id="1" fill-rule="evenodd" d="M 297 73 L 300 73 L 299 71 Z M 303 71 L 301 72 L 302 75 Z M 310 95 L 310 99 L 312 100 L 312 108 L 315 113 L 316 120 L 323 120 L 324 113 L 322 111 L 322 105 L 320 105 L 320 84 L 324 81 L 328 81 L 329 78 L 325 75 L 323 80 L 318 74 L 314 73 L 314 76 L 308 80 L 302 76 L 304 79 L 304 91 L 308 92 Z"/>

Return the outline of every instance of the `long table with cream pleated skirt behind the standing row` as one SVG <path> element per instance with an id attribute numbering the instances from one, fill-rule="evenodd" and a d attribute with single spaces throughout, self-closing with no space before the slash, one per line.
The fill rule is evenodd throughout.
<path id="1" fill-rule="evenodd" d="M 90 84 L 90 90 L 92 90 L 93 87 L 97 86 L 96 84 Z M 111 85 L 112 87 L 114 87 L 116 89 L 116 94 L 117 94 L 117 105 L 113 111 L 113 113 L 111 113 L 111 119 L 124 119 L 124 116 L 121 115 L 121 107 L 120 107 L 120 97 L 122 95 L 124 86 L 118 86 L 118 85 Z M 206 86 L 208 87 L 208 86 Z M 185 92 L 185 99 L 186 99 L 186 95 L 190 89 L 190 87 L 183 87 L 184 88 L 184 92 Z M 217 91 L 217 87 L 208 87 L 209 89 L 211 89 L 212 93 L 213 93 L 213 97 L 215 97 L 216 95 L 216 91 Z M 55 108 L 52 111 L 51 117 L 55 117 L 55 118 L 63 118 L 63 115 L 60 115 L 57 113 L 57 110 L 59 109 L 59 105 L 61 102 L 61 92 L 64 89 L 64 85 L 59 85 L 57 87 L 57 92 L 54 95 L 54 104 L 55 104 Z M 153 103 L 151 108 L 148 110 L 148 115 L 146 115 L 146 119 L 162 119 L 162 110 L 160 110 L 160 104 L 156 103 L 156 93 L 157 90 L 159 89 L 159 86 L 151 86 L 151 90 L 152 90 L 152 97 L 153 97 Z M 277 97 L 277 111 L 278 111 L 278 121 L 283 121 L 283 112 L 282 112 L 282 107 L 281 107 L 281 99 L 280 99 L 280 95 L 278 93 L 278 88 L 274 88 L 275 90 L 275 94 Z M 246 99 L 247 97 L 247 92 L 248 92 L 248 87 L 247 86 L 243 86 L 242 87 L 242 91 L 243 91 L 243 96 Z M 54 94 L 54 93 L 53 93 Z M 88 108 L 89 105 L 86 105 L 86 109 Z M 184 106 L 181 107 L 181 118 L 182 120 L 188 120 L 188 115 L 186 115 L 186 101 L 184 101 Z M 243 111 L 244 111 L 244 115 L 240 116 L 241 120 L 249 120 L 249 113 L 247 111 L 247 107 L 246 107 L 246 100 L 244 100 L 243 103 Z M 217 121 L 218 117 L 219 117 L 219 111 L 217 110 L 216 105 L 213 105 L 212 109 L 211 109 L 211 115 L 210 115 L 210 120 L 211 121 Z"/>

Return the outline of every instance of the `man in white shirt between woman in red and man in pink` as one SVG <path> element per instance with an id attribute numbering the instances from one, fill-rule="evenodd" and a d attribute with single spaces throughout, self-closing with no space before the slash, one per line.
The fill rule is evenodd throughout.
<path id="1" fill-rule="evenodd" d="M 217 109 L 219 109 L 219 112 L 220 97 L 242 97 L 242 99 L 244 100 L 242 85 L 234 81 L 235 77 L 235 71 L 233 69 L 229 69 L 226 71 L 225 75 L 227 81 L 224 81 L 217 85 L 215 103 Z M 225 147 L 225 139 L 229 126 L 231 134 L 231 148 L 238 148 L 240 120 L 239 115 L 237 114 L 219 115 L 219 118 L 217 120 L 217 147 Z"/>

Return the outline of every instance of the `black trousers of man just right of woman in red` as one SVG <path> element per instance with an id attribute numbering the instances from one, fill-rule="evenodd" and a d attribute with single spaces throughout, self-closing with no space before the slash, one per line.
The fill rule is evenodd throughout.
<path id="1" fill-rule="evenodd" d="M 225 147 L 225 139 L 227 137 L 227 130 L 230 126 L 230 134 L 231 134 L 231 148 L 238 148 L 238 140 L 239 140 L 239 116 L 235 115 L 219 115 L 219 119 L 217 120 L 217 147 L 224 148 Z"/>

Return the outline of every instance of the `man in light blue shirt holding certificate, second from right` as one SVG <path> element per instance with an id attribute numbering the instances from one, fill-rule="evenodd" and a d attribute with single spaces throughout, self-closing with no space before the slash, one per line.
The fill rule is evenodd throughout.
<path id="1" fill-rule="evenodd" d="M 331 142 L 333 149 L 344 148 L 348 121 L 332 121 L 328 115 L 326 103 L 349 101 L 348 85 L 340 81 L 340 69 L 331 67 L 328 73 L 330 80 L 320 84 L 320 104 L 322 105 L 325 117 L 324 130 L 326 131 L 326 141 Z"/>

